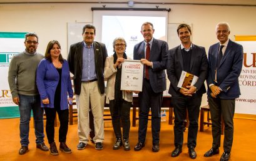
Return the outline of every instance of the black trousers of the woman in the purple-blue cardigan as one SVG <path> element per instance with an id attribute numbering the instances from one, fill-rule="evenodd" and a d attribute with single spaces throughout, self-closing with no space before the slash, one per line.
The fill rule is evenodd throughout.
<path id="1" fill-rule="evenodd" d="M 56 110 L 55 108 L 44 108 L 46 114 L 46 135 L 49 144 L 54 142 L 54 120 L 56 117 L 56 112 L 59 116 L 59 142 L 66 142 L 66 135 L 68 133 L 68 117 L 69 111 L 66 110 Z"/>

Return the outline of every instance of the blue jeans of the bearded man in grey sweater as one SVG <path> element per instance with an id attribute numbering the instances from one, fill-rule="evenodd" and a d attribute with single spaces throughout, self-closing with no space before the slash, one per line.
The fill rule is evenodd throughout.
<path id="1" fill-rule="evenodd" d="M 44 142 L 44 123 L 43 114 L 44 109 L 41 108 L 39 95 L 21 95 L 19 94 L 19 131 L 21 137 L 21 146 L 28 146 L 29 140 L 29 121 L 31 117 L 31 110 L 34 116 L 34 130 L 36 135 L 36 144 Z"/>

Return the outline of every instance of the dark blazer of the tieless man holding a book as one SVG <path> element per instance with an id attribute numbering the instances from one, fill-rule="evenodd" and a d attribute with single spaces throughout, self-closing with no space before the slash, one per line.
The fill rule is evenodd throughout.
<path id="1" fill-rule="evenodd" d="M 182 49 L 180 46 L 174 47 L 168 51 L 168 60 L 166 64 L 168 79 L 170 80 L 169 94 L 173 96 L 180 95 L 180 88 L 177 87 L 178 81 L 182 74 L 183 69 L 183 57 Z M 190 61 L 190 73 L 198 76 L 198 80 L 195 83 L 197 87 L 197 94 L 204 94 L 205 89 L 205 79 L 207 79 L 207 55 L 205 52 L 205 47 L 196 46 L 192 44 L 192 56 Z"/>

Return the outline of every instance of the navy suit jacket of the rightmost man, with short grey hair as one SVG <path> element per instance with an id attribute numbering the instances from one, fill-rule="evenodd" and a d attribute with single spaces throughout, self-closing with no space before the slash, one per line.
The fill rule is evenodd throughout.
<path id="1" fill-rule="evenodd" d="M 218 48 L 220 43 L 210 46 L 208 52 L 208 78 L 207 84 L 215 84 L 215 69 L 218 61 Z M 218 97 L 220 99 L 235 99 L 240 95 L 240 88 L 238 84 L 238 77 L 243 65 L 243 47 L 229 40 L 227 49 L 223 54 L 220 67 L 217 71 L 218 83 L 215 84 L 223 90 Z M 210 96 L 210 89 L 207 94 Z"/>

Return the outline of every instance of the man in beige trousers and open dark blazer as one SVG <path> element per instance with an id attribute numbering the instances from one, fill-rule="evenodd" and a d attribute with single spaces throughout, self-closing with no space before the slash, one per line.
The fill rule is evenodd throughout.
<path id="1" fill-rule="evenodd" d="M 108 56 L 105 44 L 94 41 L 95 26 L 83 27 L 84 41 L 70 46 L 68 54 L 69 69 L 74 74 L 74 93 L 78 106 L 78 150 L 88 144 L 89 119 L 91 106 L 95 122 L 95 149 L 103 149 L 104 140 L 104 99 L 105 84 L 103 70 Z"/>

